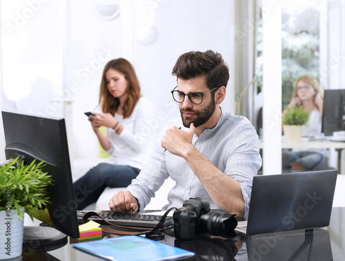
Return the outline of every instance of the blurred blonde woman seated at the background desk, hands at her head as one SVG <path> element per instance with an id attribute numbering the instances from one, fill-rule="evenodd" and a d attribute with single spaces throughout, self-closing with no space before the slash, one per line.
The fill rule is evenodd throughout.
<path id="1" fill-rule="evenodd" d="M 319 88 L 319 82 L 310 75 L 304 75 L 296 80 L 293 95 L 288 108 L 303 106 L 311 115 L 306 125 L 302 126 L 302 136 L 315 137 L 321 135 L 322 110 L 324 101 Z M 283 115 L 286 110 L 283 111 Z M 282 153 L 283 171 L 315 170 L 326 160 L 326 149 L 294 148 Z"/>

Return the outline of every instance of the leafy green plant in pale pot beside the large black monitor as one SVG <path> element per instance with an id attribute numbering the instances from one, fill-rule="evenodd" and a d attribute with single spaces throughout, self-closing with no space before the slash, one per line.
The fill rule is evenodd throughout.
<path id="1" fill-rule="evenodd" d="M 21 255 L 24 208 L 41 209 L 49 202 L 47 186 L 52 179 L 42 166 L 35 161 L 25 165 L 17 157 L 0 167 L 0 260 Z"/>

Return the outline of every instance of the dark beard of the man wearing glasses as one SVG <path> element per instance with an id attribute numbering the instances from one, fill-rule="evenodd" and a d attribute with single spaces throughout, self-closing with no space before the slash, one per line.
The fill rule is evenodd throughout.
<path id="1" fill-rule="evenodd" d="M 192 122 L 194 123 L 195 128 L 197 128 L 202 124 L 205 124 L 215 112 L 215 99 L 211 99 L 210 104 L 202 110 L 191 110 L 190 108 L 186 108 L 184 110 L 180 109 L 179 112 L 181 113 L 182 122 L 186 128 L 189 128 Z M 194 117 L 191 119 L 184 117 L 184 113 L 188 112 L 194 113 Z"/>

